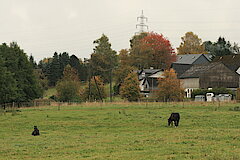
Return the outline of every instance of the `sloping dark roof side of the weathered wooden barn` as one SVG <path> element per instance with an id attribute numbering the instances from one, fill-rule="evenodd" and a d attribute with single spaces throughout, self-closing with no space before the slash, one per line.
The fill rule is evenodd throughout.
<path id="1" fill-rule="evenodd" d="M 213 62 L 209 64 L 198 64 L 193 65 L 190 69 L 188 69 L 185 73 L 183 73 L 179 78 L 199 78 L 205 71 L 210 70 L 216 65 L 222 64 L 221 62 Z"/>

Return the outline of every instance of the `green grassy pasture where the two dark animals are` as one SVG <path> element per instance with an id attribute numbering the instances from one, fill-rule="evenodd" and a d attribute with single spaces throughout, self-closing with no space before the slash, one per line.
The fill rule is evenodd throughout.
<path id="1" fill-rule="evenodd" d="M 239 160 L 238 103 L 91 103 L 0 115 L 0 159 Z M 168 127 L 171 112 L 181 115 Z M 37 125 L 40 136 L 31 136 Z"/>

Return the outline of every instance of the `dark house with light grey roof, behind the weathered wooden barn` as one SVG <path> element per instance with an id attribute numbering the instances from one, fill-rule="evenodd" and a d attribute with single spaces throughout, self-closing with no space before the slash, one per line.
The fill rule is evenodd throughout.
<path id="1" fill-rule="evenodd" d="M 172 63 L 171 68 L 177 73 L 179 78 L 185 71 L 196 64 L 207 64 L 211 62 L 209 54 L 184 54 L 177 55 L 177 61 Z"/>

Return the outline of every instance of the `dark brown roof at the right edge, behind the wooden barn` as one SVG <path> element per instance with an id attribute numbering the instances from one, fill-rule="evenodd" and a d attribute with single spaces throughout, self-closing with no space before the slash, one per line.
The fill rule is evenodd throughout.
<path id="1" fill-rule="evenodd" d="M 237 71 L 240 67 L 240 54 L 217 56 L 213 59 L 213 62 L 222 62 L 232 71 Z"/>

